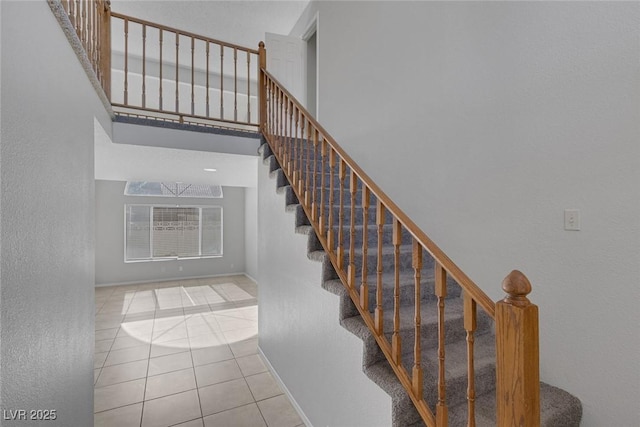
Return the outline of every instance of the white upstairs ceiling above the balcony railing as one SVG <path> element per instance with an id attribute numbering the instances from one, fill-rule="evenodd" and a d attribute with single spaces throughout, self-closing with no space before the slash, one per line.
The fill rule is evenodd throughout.
<path id="1" fill-rule="evenodd" d="M 111 10 L 257 49 L 265 32 L 289 34 L 308 3 L 308 0 L 112 0 Z"/>

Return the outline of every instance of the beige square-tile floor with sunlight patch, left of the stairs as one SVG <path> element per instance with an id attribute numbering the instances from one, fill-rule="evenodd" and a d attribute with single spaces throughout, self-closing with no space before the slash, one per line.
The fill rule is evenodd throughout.
<path id="1" fill-rule="evenodd" d="M 95 426 L 304 425 L 257 354 L 245 276 L 96 288 Z"/>

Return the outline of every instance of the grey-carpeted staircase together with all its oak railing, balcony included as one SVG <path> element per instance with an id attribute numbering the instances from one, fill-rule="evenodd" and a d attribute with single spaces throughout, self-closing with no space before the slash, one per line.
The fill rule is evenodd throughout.
<path id="1" fill-rule="evenodd" d="M 392 398 L 394 426 L 579 425 L 578 399 L 538 381 L 537 307 L 526 298 L 531 289 L 524 275 L 514 271 L 505 279 L 504 301 L 489 299 L 269 73 L 263 43 L 255 50 L 111 13 L 105 0 L 50 4 L 109 110 L 179 125 L 231 124 L 262 131 L 270 144 L 262 147 L 264 159 L 286 192 L 287 209 L 296 212 L 297 231 L 309 236 L 309 258 L 322 262 L 323 287 L 340 297 L 340 324 L 363 342 L 364 372 Z M 124 75 L 121 103 L 114 102 L 111 87 L 114 20 L 122 22 L 125 40 L 124 69 L 115 70 Z M 176 59 L 168 65 L 175 70 L 175 99 L 163 103 L 163 84 L 167 92 L 174 82 L 163 77 L 162 53 L 148 58 L 143 48 L 142 69 L 129 69 L 129 26 L 142 31 L 143 46 L 147 28 L 157 30 L 154 43 L 160 46 L 163 34 L 173 36 Z M 181 39 L 183 49 L 191 43 L 190 82 L 179 80 Z M 196 40 L 206 46 L 207 64 L 206 101 L 197 108 Z M 221 58 L 225 51 L 233 57 L 234 96 L 226 107 L 225 79 L 219 87 L 210 86 L 216 72 L 209 70 L 210 49 L 219 50 Z M 247 61 L 247 85 L 240 90 L 238 52 Z M 159 64 L 157 94 L 146 92 L 148 60 Z M 231 75 L 223 73 L 222 63 L 218 76 Z M 251 88 L 252 63 L 258 68 L 257 91 Z M 142 80 L 135 96 L 129 94 L 130 73 Z M 184 91 L 181 95 L 180 83 L 190 83 L 190 99 Z M 213 102 L 211 91 L 217 93 Z M 252 113 L 255 92 L 258 114 L 256 108 Z M 239 95 L 246 97 L 246 110 L 244 102 L 238 104 Z M 286 172 L 271 149 L 286 162 Z"/>

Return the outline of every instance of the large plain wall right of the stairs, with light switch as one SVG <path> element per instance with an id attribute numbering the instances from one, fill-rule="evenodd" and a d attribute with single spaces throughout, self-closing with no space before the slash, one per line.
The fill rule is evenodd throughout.
<path id="1" fill-rule="evenodd" d="M 323 126 L 492 298 L 528 275 L 584 426 L 636 425 L 640 4 L 315 2 L 292 34 L 316 11 Z"/>

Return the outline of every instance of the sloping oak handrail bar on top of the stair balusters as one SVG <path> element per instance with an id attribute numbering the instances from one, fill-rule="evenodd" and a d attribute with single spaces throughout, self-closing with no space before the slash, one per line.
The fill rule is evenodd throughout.
<path id="1" fill-rule="evenodd" d="M 295 106 L 303 111 L 305 119 L 309 124 L 317 129 L 322 135 L 325 136 L 331 148 L 336 154 L 343 159 L 347 167 L 351 168 L 353 172 L 360 178 L 360 180 L 369 187 L 371 193 L 378 198 L 394 215 L 395 218 L 407 229 L 411 235 L 420 242 L 420 244 L 431 254 L 431 256 L 437 259 L 447 273 L 456 281 L 462 288 L 464 288 L 469 295 L 484 309 L 491 318 L 495 318 L 495 303 L 489 296 L 480 289 L 461 269 L 458 267 L 443 251 L 440 249 L 426 234 L 422 231 L 403 211 L 396 205 L 389 196 L 387 196 L 378 185 L 353 161 L 340 145 L 333 139 L 333 137 L 327 132 L 320 123 L 318 123 L 311 114 L 300 104 L 300 102 L 291 95 L 291 93 L 282 85 L 278 80 L 269 73 L 265 68 L 261 68 L 263 72 L 271 81 L 276 83 L 279 89 L 289 98 Z"/>

